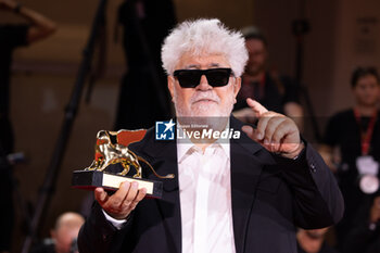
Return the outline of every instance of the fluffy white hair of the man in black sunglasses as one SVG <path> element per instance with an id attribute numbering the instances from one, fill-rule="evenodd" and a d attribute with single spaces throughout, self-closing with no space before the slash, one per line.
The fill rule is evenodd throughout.
<path id="1" fill-rule="evenodd" d="M 228 29 L 217 18 L 186 21 L 172 30 L 161 50 L 163 67 L 168 75 L 173 75 L 183 53 L 194 56 L 223 54 L 231 65 L 235 76 L 243 74 L 248 61 L 242 34 Z"/>

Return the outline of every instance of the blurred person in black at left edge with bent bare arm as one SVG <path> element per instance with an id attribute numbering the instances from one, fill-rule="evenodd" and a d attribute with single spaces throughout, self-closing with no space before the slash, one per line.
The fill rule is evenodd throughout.
<path id="1" fill-rule="evenodd" d="M 0 199 L 7 203 L 0 211 L 0 252 L 10 251 L 13 232 L 13 182 L 7 155 L 14 152 L 10 119 L 10 79 L 12 54 L 17 47 L 28 46 L 50 36 L 54 22 L 13 0 L 0 0 L 0 15 L 11 12 L 26 24 L 0 24 Z"/>

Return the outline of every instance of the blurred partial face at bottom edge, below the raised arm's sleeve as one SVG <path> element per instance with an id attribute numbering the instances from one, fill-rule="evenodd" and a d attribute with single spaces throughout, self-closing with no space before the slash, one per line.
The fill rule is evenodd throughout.
<path id="1" fill-rule="evenodd" d="M 325 241 L 329 228 L 302 229 L 296 233 L 297 253 L 338 253 Z"/>

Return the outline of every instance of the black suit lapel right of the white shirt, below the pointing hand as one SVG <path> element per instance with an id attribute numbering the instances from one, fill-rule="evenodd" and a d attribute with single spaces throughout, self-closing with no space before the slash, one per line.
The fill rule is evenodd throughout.
<path id="1" fill-rule="evenodd" d="M 243 124 L 231 117 L 230 126 L 235 130 L 241 130 Z M 230 141 L 230 146 L 233 235 L 237 253 L 242 253 L 255 199 L 255 189 L 263 167 L 256 153 L 263 148 L 257 142 L 252 141 L 243 131 L 241 131 L 240 139 Z"/>

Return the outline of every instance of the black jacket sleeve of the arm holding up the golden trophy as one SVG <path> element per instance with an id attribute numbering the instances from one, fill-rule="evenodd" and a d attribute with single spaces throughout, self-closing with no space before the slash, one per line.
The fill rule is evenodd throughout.
<path id="1" fill-rule="evenodd" d="M 116 229 L 106 220 L 98 202 L 92 205 L 91 213 L 81 226 L 78 235 L 78 249 L 80 253 L 112 253 L 119 252 L 126 233 L 130 230 L 132 216 L 126 225 Z"/>

